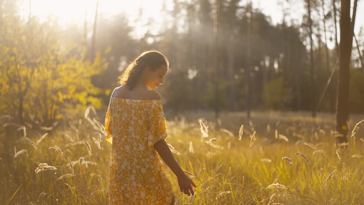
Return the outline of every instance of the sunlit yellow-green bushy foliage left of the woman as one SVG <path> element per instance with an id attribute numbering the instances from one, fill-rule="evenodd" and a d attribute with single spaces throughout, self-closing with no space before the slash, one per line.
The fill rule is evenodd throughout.
<path id="1" fill-rule="evenodd" d="M 77 104 L 101 108 L 94 95 L 103 90 L 91 83 L 91 76 L 104 71 L 107 63 L 99 53 L 85 59 L 85 48 L 63 38 L 62 31 L 49 23 L 17 16 L 0 19 L 0 108 L 2 114 L 34 117 L 40 123 L 82 114 Z"/>

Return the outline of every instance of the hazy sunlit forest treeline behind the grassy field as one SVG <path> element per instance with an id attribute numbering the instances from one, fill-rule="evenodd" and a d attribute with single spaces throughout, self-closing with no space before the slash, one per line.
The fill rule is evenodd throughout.
<path id="1" fill-rule="evenodd" d="M 123 69 L 151 49 L 169 58 L 169 73 L 157 91 L 163 107 L 175 113 L 213 109 L 216 80 L 220 111 L 244 111 L 249 98 L 250 109 L 335 112 L 338 50 L 328 49 L 327 42 L 340 37 L 335 32 L 336 1 L 336 12 L 332 3 L 311 1 L 315 18 L 305 15 L 301 25 L 288 20 L 288 11 L 282 9 L 282 23 L 273 26 L 268 16 L 243 1 L 219 0 L 214 5 L 209 0 L 174 0 L 173 10 L 163 7 L 160 12 L 165 19 L 157 35 L 149 32 L 155 22 L 140 21 L 149 29 L 141 39 L 131 36 L 134 28 L 123 13 L 108 18 L 96 13 L 94 22 L 61 28 L 52 18 L 40 23 L 36 16 L 20 16 L 20 1 L 0 2 L 0 114 L 20 123 L 31 119 L 51 125 L 82 115 L 88 105 L 105 109 Z M 363 53 L 364 34 L 356 39 L 349 111 L 363 113 L 364 71 L 358 51 Z M 336 71 L 327 86 L 332 69 Z"/>

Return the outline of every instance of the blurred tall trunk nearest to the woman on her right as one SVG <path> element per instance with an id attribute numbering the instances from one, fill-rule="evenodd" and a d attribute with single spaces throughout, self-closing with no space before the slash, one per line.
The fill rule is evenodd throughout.
<path id="1" fill-rule="evenodd" d="M 219 1 L 215 0 L 215 15 L 214 15 L 214 85 L 215 85 L 215 119 L 218 119 L 219 115 L 219 35 L 218 35 L 218 27 L 219 27 Z M 218 125 L 218 123 L 217 123 Z"/>

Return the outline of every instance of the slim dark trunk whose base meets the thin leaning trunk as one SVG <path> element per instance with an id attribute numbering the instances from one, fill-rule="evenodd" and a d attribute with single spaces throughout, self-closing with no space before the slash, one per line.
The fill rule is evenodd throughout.
<path id="1" fill-rule="evenodd" d="M 313 79 L 313 42 L 312 42 L 312 19 L 311 19 L 310 0 L 307 0 L 307 7 L 308 7 L 308 22 L 310 27 L 311 112 L 312 112 L 312 117 L 316 117 L 314 79 Z"/>

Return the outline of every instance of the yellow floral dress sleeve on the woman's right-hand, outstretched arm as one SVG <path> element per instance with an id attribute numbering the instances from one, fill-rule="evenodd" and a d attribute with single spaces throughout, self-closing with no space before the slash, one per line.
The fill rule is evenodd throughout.
<path id="1" fill-rule="evenodd" d="M 161 139 L 167 141 L 167 121 L 164 116 L 162 101 L 155 100 L 148 109 L 149 132 L 148 146 L 153 147 L 154 143 Z"/>

